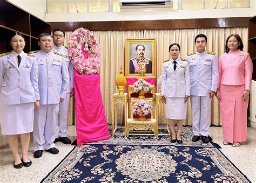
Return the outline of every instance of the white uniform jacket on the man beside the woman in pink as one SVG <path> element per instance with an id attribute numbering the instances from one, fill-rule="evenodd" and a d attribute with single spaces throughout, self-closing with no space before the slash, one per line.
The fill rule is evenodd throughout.
<path id="1" fill-rule="evenodd" d="M 214 52 L 190 53 L 187 55 L 190 66 L 191 95 L 207 96 L 216 91 L 219 79 L 218 59 Z"/>

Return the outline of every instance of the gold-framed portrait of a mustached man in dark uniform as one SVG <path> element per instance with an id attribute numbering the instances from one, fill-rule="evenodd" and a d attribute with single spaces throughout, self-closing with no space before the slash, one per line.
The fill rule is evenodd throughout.
<path id="1" fill-rule="evenodd" d="M 139 75 L 139 62 L 145 61 L 147 77 L 156 76 L 157 46 L 156 38 L 126 39 L 125 43 L 125 76 Z"/>

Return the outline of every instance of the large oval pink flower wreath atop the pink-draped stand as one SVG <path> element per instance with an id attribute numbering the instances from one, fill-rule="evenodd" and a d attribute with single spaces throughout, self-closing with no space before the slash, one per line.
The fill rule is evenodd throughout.
<path id="1" fill-rule="evenodd" d="M 91 31 L 79 28 L 71 34 L 69 56 L 80 74 L 97 73 L 100 66 L 100 45 Z"/>

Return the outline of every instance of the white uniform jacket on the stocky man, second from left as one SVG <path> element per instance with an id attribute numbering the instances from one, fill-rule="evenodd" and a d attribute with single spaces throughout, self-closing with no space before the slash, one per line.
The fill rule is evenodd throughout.
<path id="1" fill-rule="evenodd" d="M 66 96 L 69 80 L 62 54 L 42 50 L 30 53 L 35 55 L 38 64 L 40 104 L 59 103 L 59 98 Z"/>

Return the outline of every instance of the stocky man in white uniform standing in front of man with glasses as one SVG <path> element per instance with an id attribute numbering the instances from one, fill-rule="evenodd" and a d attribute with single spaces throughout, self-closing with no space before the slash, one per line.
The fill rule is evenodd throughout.
<path id="1" fill-rule="evenodd" d="M 38 37 L 40 51 L 30 52 L 35 55 L 38 65 L 38 88 L 40 108 L 35 112 L 33 125 L 34 157 L 39 158 L 46 150 L 57 154 L 55 140 L 55 122 L 59 112 L 59 103 L 66 96 L 68 87 L 68 69 L 63 55 L 52 52 L 51 34 L 42 33 Z"/>

